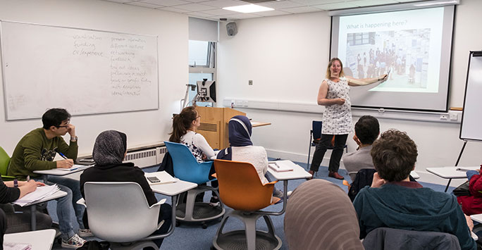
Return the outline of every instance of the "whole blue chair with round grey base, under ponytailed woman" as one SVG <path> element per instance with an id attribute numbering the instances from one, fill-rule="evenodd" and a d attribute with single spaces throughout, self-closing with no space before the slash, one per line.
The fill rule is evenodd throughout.
<path id="1" fill-rule="evenodd" d="M 174 176 L 179 180 L 186 182 L 194 182 L 197 185 L 210 182 L 209 171 L 213 165 L 212 161 L 198 163 L 196 158 L 185 144 L 175 142 L 164 142 L 171 158 L 173 159 Z M 212 191 L 219 197 L 218 189 L 206 185 L 198 186 L 187 192 L 185 204 L 178 204 L 175 218 L 180 221 L 200 222 L 202 227 L 206 228 L 206 221 L 221 218 L 225 213 L 225 208 L 221 202 L 221 206 L 209 206 L 209 203 L 195 202 L 199 193 Z M 178 199 L 182 202 L 183 199 Z"/>

